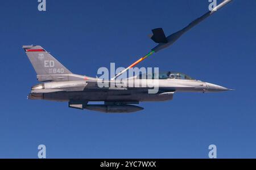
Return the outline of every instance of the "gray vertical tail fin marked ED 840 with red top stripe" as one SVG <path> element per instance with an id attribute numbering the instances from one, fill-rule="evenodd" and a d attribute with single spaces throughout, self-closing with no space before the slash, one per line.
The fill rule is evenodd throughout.
<path id="1" fill-rule="evenodd" d="M 28 59 L 30 59 L 39 82 L 61 80 L 61 75 L 72 74 L 71 71 L 44 50 L 42 46 L 24 45 L 22 48 L 25 50 Z"/>

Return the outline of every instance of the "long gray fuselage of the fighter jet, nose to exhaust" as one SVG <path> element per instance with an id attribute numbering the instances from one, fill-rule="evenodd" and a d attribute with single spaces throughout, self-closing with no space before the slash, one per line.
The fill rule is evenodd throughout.
<path id="1" fill-rule="evenodd" d="M 102 80 L 42 83 L 32 87 L 28 98 L 52 101 L 165 101 L 172 100 L 174 92 L 228 90 L 216 84 L 187 79 L 126 79 L 104 82 L 108 85 L 106 87 L 99 87 L 100 83 Z"/>

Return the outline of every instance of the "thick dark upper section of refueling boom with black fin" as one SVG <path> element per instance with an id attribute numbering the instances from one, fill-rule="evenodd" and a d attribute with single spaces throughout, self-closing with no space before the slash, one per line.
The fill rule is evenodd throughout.
<path id="1" fill-rule="evenodd" d="M 214 7 L 212 11 L 207 12 L 206 14 L 202 15 L 200 18 L 197 18 L 196 20 L 194 20 L 193 22 L 188 24 L 187 27 L 181 29 L 180 31 L 177 31 L 177 32 L 173 33 L 170 36 L 166 37 L 166 35 L 164 34 L 164 31 L 163 31 L 162 28 L 152 29 L 153 34 L 151 35 L 151 39 L 153 41 L 155 41 L 156 43 L 159 43 L 158 45 L 155 46 L 155 48 L 152 49 L 152 51 L 159 52 L 159 50 L 162 50 L 164 48 L 167 48 L 168 46 L 171 46 L 185 32 L 189 31 L 189 29 L 193 28 L 195 25 L 199 24 L 204 19 L 208 18 L 214 12 L 216 12 L 220 8 L 224 7 L 226 4 L 228 4 L 231 1 L 232 0 L 225 0 L 225 1 L 223 1 L 218 6 Z"/>

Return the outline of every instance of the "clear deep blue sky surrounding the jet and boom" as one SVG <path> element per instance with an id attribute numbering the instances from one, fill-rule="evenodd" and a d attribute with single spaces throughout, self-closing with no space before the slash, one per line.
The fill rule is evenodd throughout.
<path id="1" fill-rule="evenodd" d="M 221 1 L 218 1 L 221 2 Z M 96 76 L 126 67 L 155 46 L 152 28 L 169 35 L 208 10 L 197 1 L 3 1 L 0 6 L 0 158 L 256 157 L 256 2 L 235 0 L 138 66 L 174 70 L 236 91 L 175 94 L 133 114 L 102 114 L 67 103 L 27 100 L 36 74 L 22 45 L 42 45 L 69 70 Z"/>

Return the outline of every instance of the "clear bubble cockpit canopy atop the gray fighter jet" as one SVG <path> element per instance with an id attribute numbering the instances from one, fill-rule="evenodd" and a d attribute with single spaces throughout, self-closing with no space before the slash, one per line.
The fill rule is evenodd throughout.
<path id="1" fill-rule="evenodd" d="M 156 74 L 139 74 L 137 76 L 138 79 L 157 79 Z M 183 73 L 178 73 L 174 71 L 167 71 L 159 73 L 158 79 L 182 79 L 182 80 L 194 80 L 188 75 Z"/>

